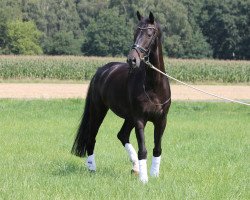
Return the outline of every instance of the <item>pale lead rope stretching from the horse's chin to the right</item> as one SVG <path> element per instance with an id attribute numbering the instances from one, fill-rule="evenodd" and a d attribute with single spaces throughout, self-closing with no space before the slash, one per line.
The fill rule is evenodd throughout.
<path id="1" fill-rule="evenodd" d="M 207 94 L 207 95 L 216 97 L 216 98 L 218 98 L 218 99 L 230 101 L 230 102 L 233 102 L 233 103 L 238 103 L 238 104 L 241 104 L 241 105 L 250 106 L 249 103 L 245 103 L 245 102 L 242 102 L 242 101 L 233 100 L 233 99 L 229 99 L 229 98 L 226 98 L 226 97 L 218 96 L 218 95 L 216 95 L 216 94 L 213 94 L 213 93 L 210 93 L 210 92 L 206 92 L 206 91 L 204 91 L 204 90 L 201 90 L 201 89 L 199 89 L 199 88 L 196 88 L 196 87 L 194 87 L 194 86 L 192 86 L 192 85 L 189 85 L 189 84 L 187 84 L 187 83 L 184 83 L 184 82 L 182 82 L 182 81 L 180 81 L 180 80 L 178 80 L 178 79 L 176 79 L 176 78 L 174 78 L 174 77 L 168 75 L 167 73 L 162 72 L 161 70 L 157 69 L 154 65 L 152 65 L 148 60 L 145 61 L 144 59 L 142 59 L 142 61 L 143 61 L 146 65 L 148 65 L 150 68 L 154 69 L 155 71 L 157 71 L 157 72 L 163 74 L 164 76 L 166 76 L 166 77 L 168 77 L 168 78 L 170 78 L 170 79 L 172 79 L 172 80 L 175 80 L 176 82 L 181 83 L 181 84 L 183 84 L 183 85 L 185 85 L 185 86 L 187 86 L 187 87 L 189 87 L 189 88 L 192 88 L 192 89 L 197 90 L 197 91 L 199 91 L 199 92 L 201 92 L 201 93 L 204 93 L 204 94 Z"/>

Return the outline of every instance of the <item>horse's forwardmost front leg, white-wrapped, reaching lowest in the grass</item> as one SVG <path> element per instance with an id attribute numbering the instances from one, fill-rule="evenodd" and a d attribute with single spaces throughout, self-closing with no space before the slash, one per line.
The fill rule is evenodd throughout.
<path id="1" fill-rule="evenodd" d="M 138 159 L 139 159 L 139 177 L 140 181 L 143 183 L 148 182 L 147 173 L 147 149 L 145 146 L 145 136 L 144 136 L 144 126 L 143 121 L 138 121 L 135 126 L 136 138 L 138 142 Z"/>

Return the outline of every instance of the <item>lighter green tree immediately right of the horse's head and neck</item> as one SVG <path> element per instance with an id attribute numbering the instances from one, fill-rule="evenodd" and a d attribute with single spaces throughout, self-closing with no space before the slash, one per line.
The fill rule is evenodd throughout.
<path id="1" fill-rule="evenodd" d="M 155 5 L 165 33 L 164 48 L 168 56 L 177 58 L 211 57 L 211 48 L 195 22 L 189 20 L 187 8 L 176 1 L 160 1 Z M 162 12 L 165 10 L 165 12 Z"/>

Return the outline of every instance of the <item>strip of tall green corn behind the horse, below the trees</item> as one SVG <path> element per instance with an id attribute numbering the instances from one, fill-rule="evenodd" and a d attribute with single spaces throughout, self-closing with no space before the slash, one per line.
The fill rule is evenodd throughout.
<path id="1" fill-rule="evenodd" d="M 0 56 L 0 81 L 90 80 L 98 67 L 125 60 L 125 57 Z M 250 61 L 165 58 L 165 66 L 170 75 L 191 83 L 250 83 Z"/>

